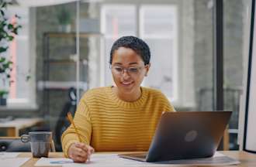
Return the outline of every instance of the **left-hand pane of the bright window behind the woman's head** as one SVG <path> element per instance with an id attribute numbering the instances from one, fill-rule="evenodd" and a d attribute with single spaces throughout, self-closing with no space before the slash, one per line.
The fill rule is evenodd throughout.
<path id="1" fill-rule="evenodd" d="M 102 7 L 102 26 L 101 31 L 105 37 L 105 56 L 102 73 L 105 73 L 103 85 L 112 83 L 111 72 L 109 70 L 109 53 L 112 44 L 120 36 L 136 35 L 136 8 L 134 5 L 105 5 Z"/>

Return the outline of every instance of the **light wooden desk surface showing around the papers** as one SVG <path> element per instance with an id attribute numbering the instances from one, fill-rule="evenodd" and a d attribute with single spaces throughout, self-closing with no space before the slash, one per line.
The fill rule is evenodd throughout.
<path id="1" fill-rule="evenodd" d="M 230 166 L 237 166 L 237 167 L 252 167 L 256 166 L 256 154 L 251 154 L 249 152 L 238 152 L 238 151 L 227 151 L 227 152 L 221 152 L 224 155 L 228 155 L 231 158 L 235 158 L 241 163 L 239 165 L 223 165 L 225 167 L 230 167 Z M 99 154 L 99 153 L 95 153 Z M 50 152 L 49 157 L 50 158 L 61 158 L 63 157 L 62 152 Z M 31 153 L 29 152 L 22 152 L 18 155 L 18 157 L 32 157 Z M 30 158 L 29 161 L 27 161 L 22 167 L 29 167 L 29 166 L 34 166 L 36 161 L 39 158 Z M 191 165 L 190 165 L 191 166 Z M 220 166 L 220 165 L 219 165 Z M 215 165 L 211 165 L 211 167 L 215 167 Z"/>

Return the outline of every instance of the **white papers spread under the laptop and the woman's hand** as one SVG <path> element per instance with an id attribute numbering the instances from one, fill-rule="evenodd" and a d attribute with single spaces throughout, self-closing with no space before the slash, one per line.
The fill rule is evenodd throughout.
<path id="1" fill-rule="evenodd" d="M 56 166 L 62 165 L 64 167 L 77 167 L 77 166 L 88 166 L 88 167 L 164 167 L 164 166 L 179 166 L 179 165 L 231 165 L 237 164 L 234 163 L 234 159 L 227 157 L 226 155 L 222 155 L 220 153 L 216 153 L 213 158 L 217 158 L 220 161 L 217 163 L 213 163 L 213 159 L 201 158 L 201 159 L 187 159 L 187 160 L 177 160 L 177 161 L 169 161 L 169 162 L 157 162 L 157 163 L 149 163 L 149 162 L 139 162 L 135 160 L 130 160 L 126 158 L 120 158 L 117 154 L 94 154 L 91 157 L 91 161 L 85 164 L 74 163 L 70 158 L 40 158 L 39 161 L 36 162 L 35 166 Z M 223 161 L 225 158 L 228 158 L 229 161 Z M 208 161 L 207 161 L 208 159 Z M 203 163 L 201 163 L 203 162 Z M 221 162 L 221 163 L 220 163 Z M 231 163 L 233 162 L 233 163 Z M 237 161 L 236 161 L 237 162 Z M 239 162 L 238 162 L 239 163 Z"/>

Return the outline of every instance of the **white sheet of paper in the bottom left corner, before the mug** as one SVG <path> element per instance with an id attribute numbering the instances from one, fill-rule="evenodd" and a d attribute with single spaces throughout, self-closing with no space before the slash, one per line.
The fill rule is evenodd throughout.
<path id="1" fill-rule="evenodd" d="M 19 167 L 29 158 L 0 158 L 0 167 Z"/>

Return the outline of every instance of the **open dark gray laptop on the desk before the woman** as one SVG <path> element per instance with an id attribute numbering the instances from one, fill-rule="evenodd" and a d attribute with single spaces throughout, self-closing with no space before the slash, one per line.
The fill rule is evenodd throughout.
<path id="1" fill-rule="evenodd" d="M 143 162 L 212 157 L 231 111 L 163 112 L 148 152 L 119 154 Z"/>

